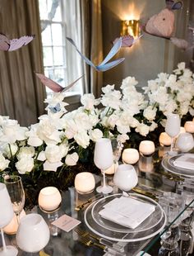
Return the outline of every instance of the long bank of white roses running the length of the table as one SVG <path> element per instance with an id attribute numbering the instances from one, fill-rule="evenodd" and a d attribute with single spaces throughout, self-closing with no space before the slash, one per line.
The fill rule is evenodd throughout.
<path id="1" fill-rule="evenodd" d="M 30 128 L 0 116 L 0 171 L 56 172 L 76 165 L 81 149 L 88 149 L 102 137 L 117 138 L 124 144 L 132 130 L 149 135 L 162 121 L 159 111 L 163 117 L 173 111 L 193 116 L 194 76 L 185 64 L 178 64 L 173 74 L 159 73 L 143 88 L 145 93 L 136 91 L 137 83 L 136 78 L 127 77 L 121 90 L 115 90 L 114 85 L 102 88 L 99 99 L 85 94 L 82 107 L 71 112 L 65 108 L 65 94 L 53 92 L 53 97 L 45 100 L 47 114 L 39 116 L 39 123 Z"/>

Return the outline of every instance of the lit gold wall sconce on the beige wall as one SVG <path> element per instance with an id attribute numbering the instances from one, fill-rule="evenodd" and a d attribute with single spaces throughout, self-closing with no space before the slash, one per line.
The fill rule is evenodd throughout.
<path id="1" fill-rule="evenodd" d="M 140 21 L 130 20 L 122 21 L 121 36 L 140 36 Z"/>

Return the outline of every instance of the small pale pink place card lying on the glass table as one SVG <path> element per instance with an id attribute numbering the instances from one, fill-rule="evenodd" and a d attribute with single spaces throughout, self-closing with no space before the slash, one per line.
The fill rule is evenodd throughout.
<path id="1" fill-rule="evenodd" d="M 56 225 L 59 229 L 69 232 L 70 230 L 74 229 L 76 225 L 81 223 L 80 220 L 76 220 L 71 216 L 67 216 L 64 214 L 58 220 L 54 220 L 51 224 Z"/>

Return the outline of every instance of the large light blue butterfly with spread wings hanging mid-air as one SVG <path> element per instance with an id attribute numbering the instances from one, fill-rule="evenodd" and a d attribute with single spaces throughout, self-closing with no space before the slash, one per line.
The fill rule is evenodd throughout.
<path id="1" fill-rule="evenodd" d="M 67 37 L 67 40 L 76 48 L 76 51 L 78 52 L 79 55 L 81 55 L 81 58 L 85 60 L 86 64 L 89 64 L 91 67 L 93 67 L 97 71 L 106 71 L 106 70 L 112 69 L 113 67 L 117 66 L 125 59 L 125 58 L 119 58 L 109 62 L 109 60 L 112 59 L 113 56 L 118 53 L 118 50 L 120 50 L 122 46 L 122 38 L 119 38 L 119 40 L 113 45 L 112 49 L 109 51 L 109 54 L 105 57 L 103 62 L 97 66 L 93 62 L 91 62 L 90 59 L 86 58 L 84 55 L 81 54 L 81 51 L 78 50 L 75 42 L 71 38 Z"/>

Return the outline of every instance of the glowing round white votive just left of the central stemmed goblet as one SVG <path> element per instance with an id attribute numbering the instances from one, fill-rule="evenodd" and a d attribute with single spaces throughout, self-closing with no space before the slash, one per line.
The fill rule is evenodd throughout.
<path id="1" fill-rule="evenodd" d="M 83 172 L 76 174 L 76 191 L 80 194 L 88 194 L 95 189 L 95 177 L 92 173 Z"/>

